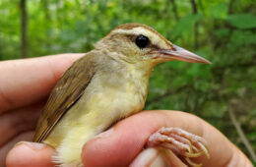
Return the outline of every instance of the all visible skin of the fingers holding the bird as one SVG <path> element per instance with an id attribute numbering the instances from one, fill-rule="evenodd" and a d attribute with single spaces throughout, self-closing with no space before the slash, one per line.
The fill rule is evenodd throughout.
<path id="1" fill-rule="evenodd" d="M 36 121 L 55 83 L 83 54 L 61 54 L 0 62 L 0 166 L 53 166 L 54 149 L 32 140 Z M 204 166 L 248 166 L 249 159 L 217 129 L 181 111 L 144 111 L 88 141 L 82 153 L 87 166 L 185 166 L 164 149 L 144 148 L 161 127 L 179 127 L 206 139 L 211 158 L 193 159 Z M 26 140 L 27 142 L 18 142 Z M 17 143 L 18 142 L 18 143 Z M 15 143 L 17 143 L 15 145 Z M 15 145 L 15 146 L 14 146 Z M 144 149 L 143 149 L 144 148 Z"/>

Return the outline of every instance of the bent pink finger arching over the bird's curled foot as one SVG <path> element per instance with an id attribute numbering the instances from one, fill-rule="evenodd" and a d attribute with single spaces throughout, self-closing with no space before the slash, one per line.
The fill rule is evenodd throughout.
<path id="1" fill-rule="evenodd" d="M 178 111 L 150 111 L 124 119 L 88 141 L 84 146 L 83 161 L 89 166 L 127 166 L 141 152 L 148 138 L 161 127 L 180 127 L 206 139 L 211 159 L 200 158 L 205 165 L 222 166 L 232 155 L 232 144 L 200 118 Z"/>

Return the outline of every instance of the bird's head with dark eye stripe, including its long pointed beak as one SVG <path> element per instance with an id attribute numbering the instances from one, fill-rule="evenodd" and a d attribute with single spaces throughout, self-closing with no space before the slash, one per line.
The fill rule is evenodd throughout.
<path id="1" fill-rule="evenodd" d="M 96 43 L 96 48 L 105 48 L 132 64 L 145 62 L 155 66 L 172 60 L 210 64 L 208 60 L 172 44 L 154 28 L 141 24 L 114 28 Z"/>

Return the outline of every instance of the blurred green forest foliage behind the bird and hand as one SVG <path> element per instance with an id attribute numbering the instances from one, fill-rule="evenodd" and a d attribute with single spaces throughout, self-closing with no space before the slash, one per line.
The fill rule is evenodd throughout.
<path id="1" fill-rule="evenodd" d="M 27 17 L 22 17 L 22 10 Z M 87 52 L 120 24 L 146 24 L 213 63 L 166 62 L 158 66 L 146 109 L 196 114 L 253 159 L 255 14 L 253 0 L 0 0 L 0 60 Z M 27 22 L 24 30 L 22 18 Z M 243 135 L 238 135 L 234 125 Z M 246 147 L 241 137 L 250 145 Z"/>

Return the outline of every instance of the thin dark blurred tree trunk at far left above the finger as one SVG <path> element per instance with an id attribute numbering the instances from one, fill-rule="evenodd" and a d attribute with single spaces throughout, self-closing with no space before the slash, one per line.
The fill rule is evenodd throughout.
<path id="1" fill-rule="evenodd" d="M 27 9 L 26 0 L 21 0 L 21 55 L 27 57 Z"/>

